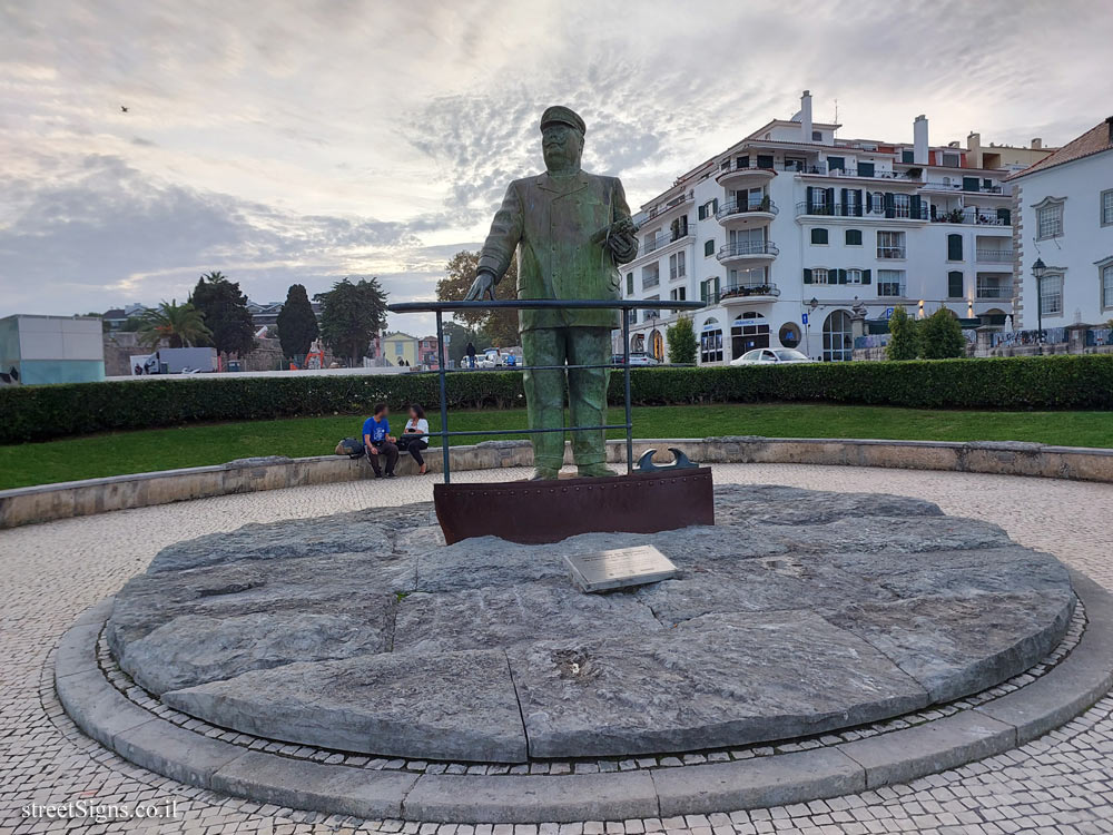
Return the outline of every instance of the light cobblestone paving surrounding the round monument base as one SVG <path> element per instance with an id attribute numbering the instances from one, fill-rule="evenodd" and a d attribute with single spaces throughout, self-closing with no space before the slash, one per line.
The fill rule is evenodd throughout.
<path id="1" fill-rule="evenodd" d="M 518 471 L 460 480 L 518 478 Z M 1113 485 L 945 472 L 790 464 L 719 465 L 718 483 L 888 492 L 1003 525 L 1113 589 Z M 0 531 L 0 835 L 30 832 L 407 835 L 642 833 L 1113 833 L 1113 697 L 1014 752 L 860 795 L 683 818 L 453 826 L 365 822 L 279 809 L 190 788 L 137 768 L 83 737 L 53 697 L 52 648 L 86 608 L 142 571 L 170 542 L 246 522 L 390 507 L 432 498 L 434 477 L 355 482 L 106 513 Z M 372 543 L 368 543 L 372 544 Z M 29 818 L 30 804 L 177 803 L 177 817 L 97 823 Z"/>

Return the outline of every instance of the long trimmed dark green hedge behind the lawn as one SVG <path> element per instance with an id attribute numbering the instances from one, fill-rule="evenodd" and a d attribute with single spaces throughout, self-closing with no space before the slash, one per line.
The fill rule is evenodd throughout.
<path id="1" fill-rule="evenodd" d="M 447 377 L 450 409 L 523 406 L 521 372 Z M 1113 410 L 1113 355 L 637 369 L 636 405 L 815 401 L 915 409 Z M 622 374 L 610 401 L 622 403 Z M 203 421 L 365 414 L 439 403 L 435 374 L 237 377 L 0 389 L 0 443 Z"/>

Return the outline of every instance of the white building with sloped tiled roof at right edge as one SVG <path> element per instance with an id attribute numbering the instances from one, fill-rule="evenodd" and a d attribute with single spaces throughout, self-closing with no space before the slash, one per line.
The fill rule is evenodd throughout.
<path id="1" fill-rule="evenodd" d="M 1018 207 L 1016 328 L 1113 318 L 1113 116 L 1008 184 Z"/>

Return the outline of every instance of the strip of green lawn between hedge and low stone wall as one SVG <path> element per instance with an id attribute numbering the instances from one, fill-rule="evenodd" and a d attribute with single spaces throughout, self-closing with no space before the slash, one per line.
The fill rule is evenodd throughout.
<path id="1" fill-rule="evenodd" d="M 397 428 L 403 419 L 393 419 Z M 1109 412 L 958 412 L 762 404 L 653 406 L 634 410 L 636 438 L 890 438 L 927 441 L 1037 441 L 1067 446 L 1113 446 Z M 610 422 L 622 411 L 611 409 Z M 322 455 L 359 434 L 362 418 L 301 418 L 189 425 L 0 446 L 0 489 L 98 475 L 218 464 L 252 455 Z M 430 414 L 432 431 L 437 415 Z M 456 412 L 452 430 L 524 429 L 524 410 Z M 397 434 L 397 432 L 395 432 Z M 622 432 L 610 436 L 621 438 Z M 486 436 L 490 438 L 490 436 Z M 453 443 L 485 440 L 454 438 Z"/>

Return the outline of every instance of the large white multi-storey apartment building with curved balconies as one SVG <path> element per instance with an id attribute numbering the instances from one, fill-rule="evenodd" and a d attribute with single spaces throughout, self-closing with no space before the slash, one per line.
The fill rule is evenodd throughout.
<path id="1" fill-rule="evenodd" d="M 1009 326 L 1003 180 L 1054 149 L 982 147 L 976 134 L 967 148 L 932 146 L 923 116 L 912 143 L 841 139 L 839 128 L 812 120 L 805 91 L 792 119 L 682 175 L 636 217 L 641 249 L 622 267 L 624 297 L 705 301 L 693 316 L 700 364 L 764 346 L 849 360 L 864 323 L 897 305 Z M 663 357 L 674 318 L 631 316 L 631 350 Z"/>

